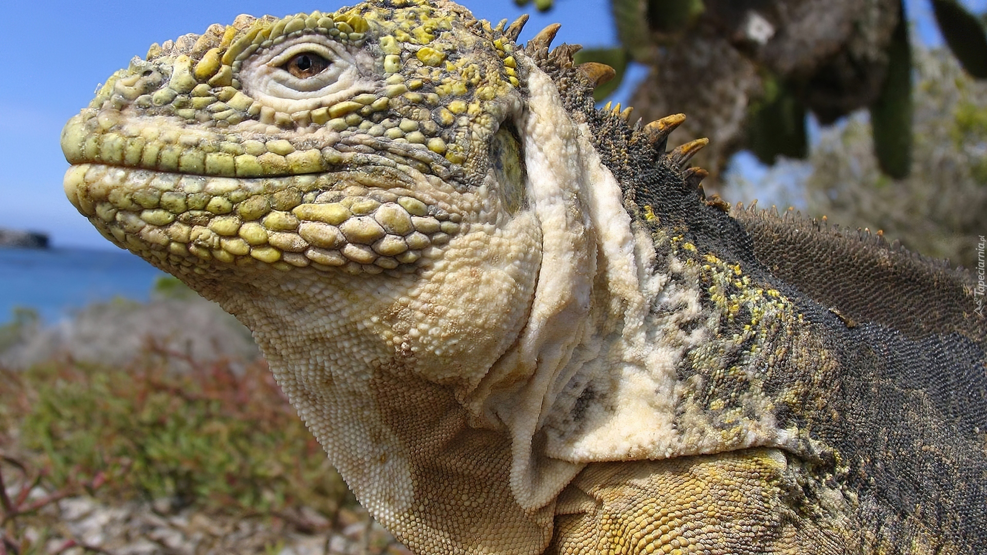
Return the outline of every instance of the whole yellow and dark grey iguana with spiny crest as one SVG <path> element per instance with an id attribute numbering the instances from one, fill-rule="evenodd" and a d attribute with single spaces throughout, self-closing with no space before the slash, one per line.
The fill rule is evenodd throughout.
<path id="1" fill-rule="evenodd" d="M 704 198 L 681 115 L 597 110 L 609 68 L 524 22 L 152 45 L 65 126 L 65 191 L 253 330 L 418 553 L 987 551 L 970 275 Z"/>

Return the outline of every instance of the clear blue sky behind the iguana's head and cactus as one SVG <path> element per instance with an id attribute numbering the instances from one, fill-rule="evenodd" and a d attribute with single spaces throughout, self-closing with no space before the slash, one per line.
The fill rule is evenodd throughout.
<path id="1" fill-rule="evenodd" d="M 462 1 L 462 0 L 461 0 Z M 62 193 L 68 168 L 58 146 L 65 121 L 86 106 L 97 85 L 151 42 L 201 33 L 212 23 L 230 23 L 240 13 L 283 16 L 315 9 L 332 11 L 330 0 L 235 0 L 201 2 L 93 2 L 7 0 L 0 6 L 0 227 L 49 233 L 55 246 L 112 248 L 75 211 Z M 557 43 L 586 46 L 616 42 L 605 0 L 557 0 L 558 8 L 538 14 L 511 0 L 465 0 L 478 17 L 532 18 L 521 36 L 527 40 L 550 23 L 563 24 Z M 984 10 L 987 0 L 965 2 Z M 922 39 L 937 43 L 926 0 L 908 0 L 918 16 Z M 616 100 L 626 102 L 630 87 Z"/>

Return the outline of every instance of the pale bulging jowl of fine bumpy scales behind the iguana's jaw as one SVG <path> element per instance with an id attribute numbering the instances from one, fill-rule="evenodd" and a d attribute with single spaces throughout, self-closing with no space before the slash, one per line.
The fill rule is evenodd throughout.
<path id="1" fill-rule="evenodd" d="M 530 213 L 454 238 L 393 312 L 396 350 L 421 377 L 468 393 L 527 321 L 540 263 Z"/>

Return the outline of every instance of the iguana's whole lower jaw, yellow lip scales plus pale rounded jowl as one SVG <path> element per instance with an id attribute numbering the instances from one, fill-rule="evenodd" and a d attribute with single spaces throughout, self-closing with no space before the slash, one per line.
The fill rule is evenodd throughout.
<path id="1" fill-rule="evenodd" d="M 365 168 L 236 180 L 83 164 L 68 171 L 65 188 L 118 246 L 235 305 L 254 329 L 277 320 L 280 335 L 326 335 L 358 325 L 387 357 L 414 359 L 406 365 L 422 377 L 468 389 L 522 326 L 529 303 L 517 300 L 533 295 L 540 231 L 529 212 L 499 224 L 451 212 L 495 205 L 486 186 L 463 194 L 410 174 Z M 450 211 L 435 217 L 418 198 Z M 296 329 L 299 307 L 285 305 L 299 294 L 321 318 L 309 331 Z M 238 295 L 263 308 L 230 300 Z M 328 335 L 321 343 L 337 339 Z M 466 360 L 478 369 L 467 371 Z"/>

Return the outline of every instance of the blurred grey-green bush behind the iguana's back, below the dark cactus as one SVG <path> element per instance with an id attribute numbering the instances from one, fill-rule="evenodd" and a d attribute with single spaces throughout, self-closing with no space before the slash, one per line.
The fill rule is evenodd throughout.
<path id="1" fill-rule="evenodd" d="M 806 162 L 787 161 L 756 184 L 730 176 L 724 195 L 747 201 L 759 192 L 783 192 L 775 200 L 782 205 L 801 205 L 810 215 L 854 228 L 880 229 L 911 251 L 974 267 L 976 239 L 987 232 L 987 82 L 972 79 L 943 49 L 916 48 L 914 63 L 908 178 L 892 180 L 880 171 L 872 122 L 861 114 L 824 130 Z M 803 189 L 793 191 L 787 180 Z"/>

